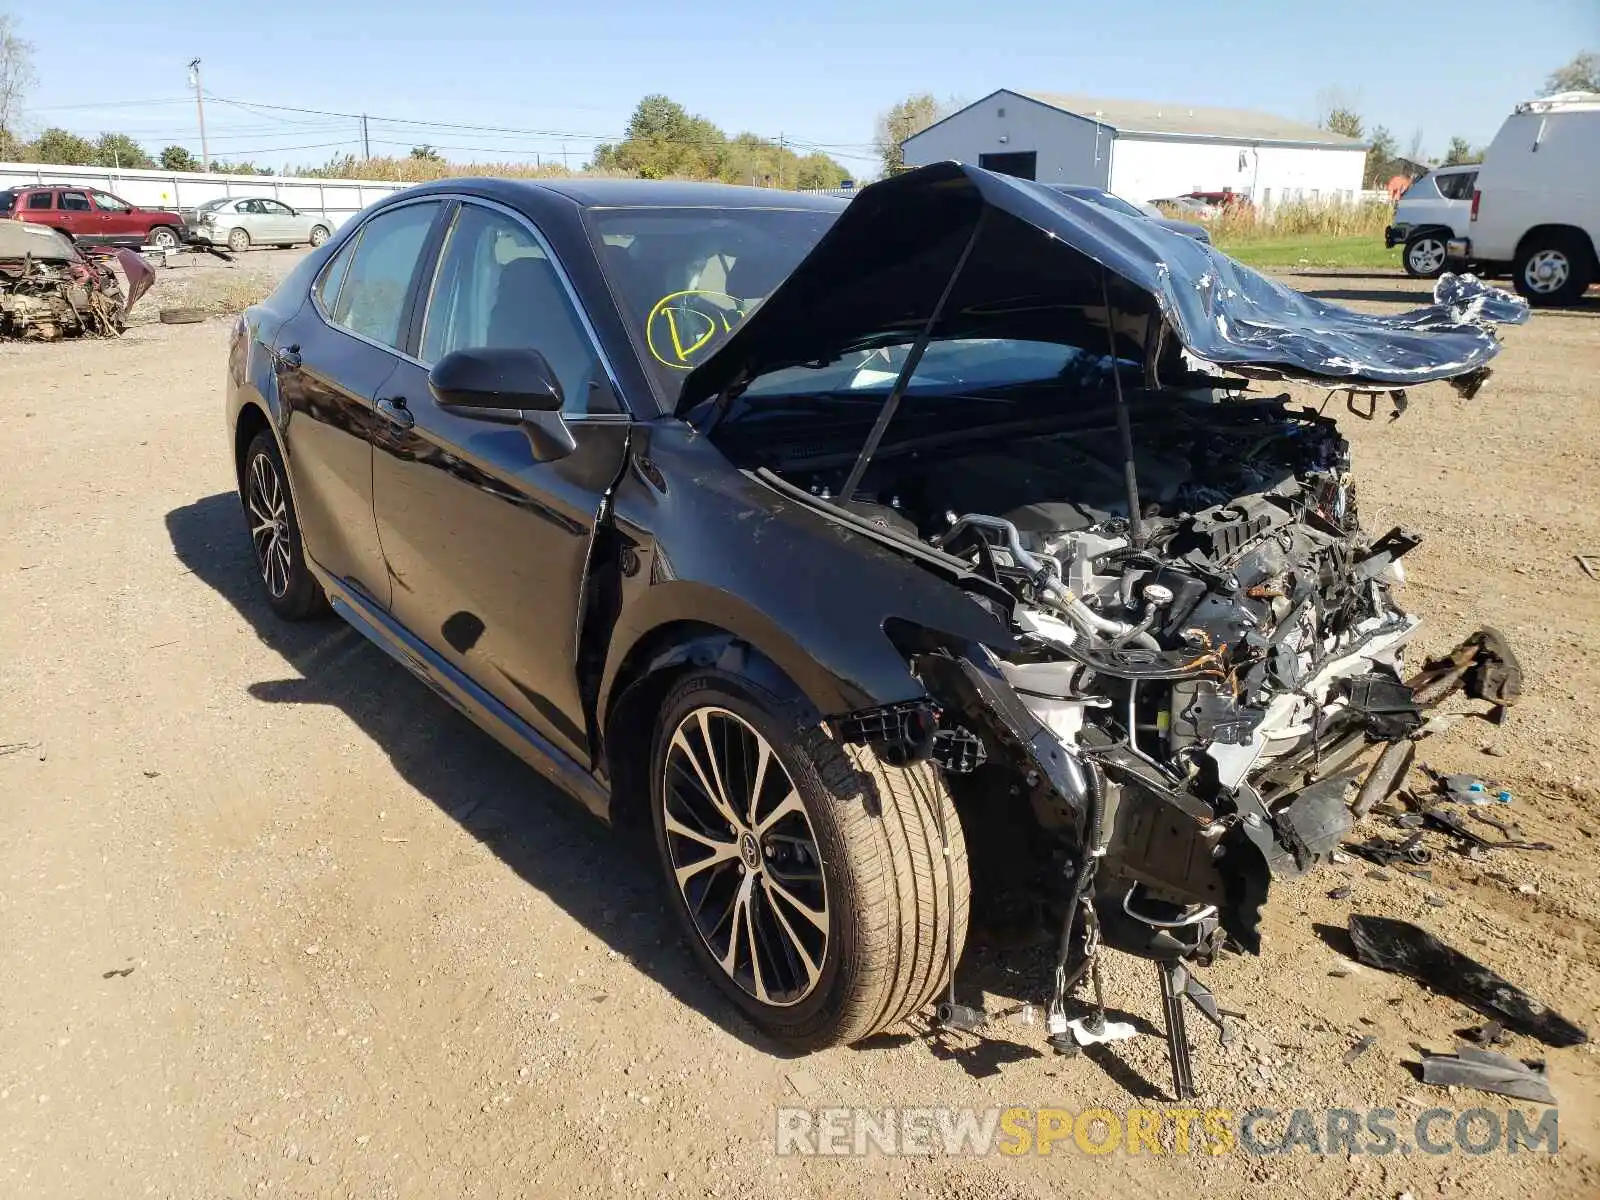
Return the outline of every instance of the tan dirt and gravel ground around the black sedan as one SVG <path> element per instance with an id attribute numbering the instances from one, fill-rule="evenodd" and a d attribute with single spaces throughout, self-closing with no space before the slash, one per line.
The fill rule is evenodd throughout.
<path id="1" fill-rule="evenodd" d="M 152 310 L 176 294 L 163 275 Z M 947 1046 L 766 1045 L 696 974 L 638 848 L 354 630 L 270 616 L 227 461 L 227 328 L 0 346 L 0 1195 L 1600 1194 L 1597 1048 L 1528 1038 L 1510 1053 L 1550 1064 L 1554 1157 L 778 1157 L 778 1106 L 1163 1106 L 1155 973 L 1110 955 L 1110 1003 L 1146 1032 L 1093 1056 L 1021 1018 Z M 1557 850 L 1432 838 L 1432 880 L 1357 861 L 1277 885 L 1264 954 L 1203 973 L 1246 1014 L 1229 1050 L 1190 1018 L 1203 1104 L 1541 1110 L 1418 1082 L 1416 1046 L 1480 1018 L 1349 965 L 1350 912 L 1600 1026 L 1600 581 L 1574 562 L 1600 554 L 1597 376 L 1590 302 L 1507 331 L 1475 400 L 1435 386 L 1394 424 L 1342 421 L 1368 525 L 1427 533 L 1403 592 L 1421 648 L 1490 622 L 1528 672 L 1509 725 L 1461 720 L 1419 757 L 1499 779 Z M 974 947 L 963 978 L 1002 1011 L 1040 997 L 1042 963 Z"/>

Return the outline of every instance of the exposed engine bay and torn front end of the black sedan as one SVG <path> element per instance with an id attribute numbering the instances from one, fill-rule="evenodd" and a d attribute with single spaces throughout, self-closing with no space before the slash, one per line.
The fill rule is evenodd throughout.
<path id="1" fill-rule="evenodd" d="M 1093 861 L 1107 944 L 1203 962 L 1259 946 L 1270 875 L 1350 829 L 1355 758 L 1421 723 L 1394 597 L 1419 538 L 1362 530 L 1346 440 L 1288 397 L 1146 395 L 1130 434 L 1138 520 L 1110 413 L 880 454 L 848 499 L 842 470 L 782 478 L 960 560 L 1016 630 L 986 662 L 914 659 L 958 806 L 1026 797 L 1043 834 L 1006 837 L 1000 882 L 1042 851 L 1029 890 L 1061 914 Z"/>

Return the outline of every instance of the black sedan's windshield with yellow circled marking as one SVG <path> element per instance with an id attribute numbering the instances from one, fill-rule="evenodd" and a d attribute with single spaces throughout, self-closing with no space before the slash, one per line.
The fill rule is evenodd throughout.
<path id="1" fill-rule="evenodd" d="M 666 405 L 838 218 L 832 208 L 592 208 L 611 291 Z"/>

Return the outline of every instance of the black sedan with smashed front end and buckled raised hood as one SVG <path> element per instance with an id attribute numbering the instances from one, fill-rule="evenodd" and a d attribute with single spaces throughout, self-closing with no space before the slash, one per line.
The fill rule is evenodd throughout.
<path id="1" fill-rule="evenodd" d="M 1416 731 L 1418 534 L 1330 414 L 1470 394 L 1525 315 L 1398 317 L 957 165 L 819 197 L 446 181 L 240 320 L 227 429 L 269 603 L 331 606 L 613 821 L 762 1029 L 946 997 L 970 912 L 1170 1008 Z M 1198 989 L 1198 990 L 1197 990 Z"/>

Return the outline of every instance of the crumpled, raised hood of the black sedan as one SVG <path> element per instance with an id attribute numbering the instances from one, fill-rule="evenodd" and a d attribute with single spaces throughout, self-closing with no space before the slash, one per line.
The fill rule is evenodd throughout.
<path id="1" fill-rule="evenodd" d="M 1216 366 L 1405 387 L 1482 373 L 1499 352 L 1493 326 L 1528 318 L 1520 298 L 1470 275 L 1443 277 L 1419 309 L 1354 312 L 1157 221 L 936 163 L 864 189 L 686 376 L 678 414 L 768 371 L 904 344 L 928 322 L 979 222 L 936 336 L 1061 341 L 1064 314 L 1099 304 L 1104 267 L 1114 302 L 1138 302 L 1130 288 L 1152 298 L 1184 349 Z"/>

